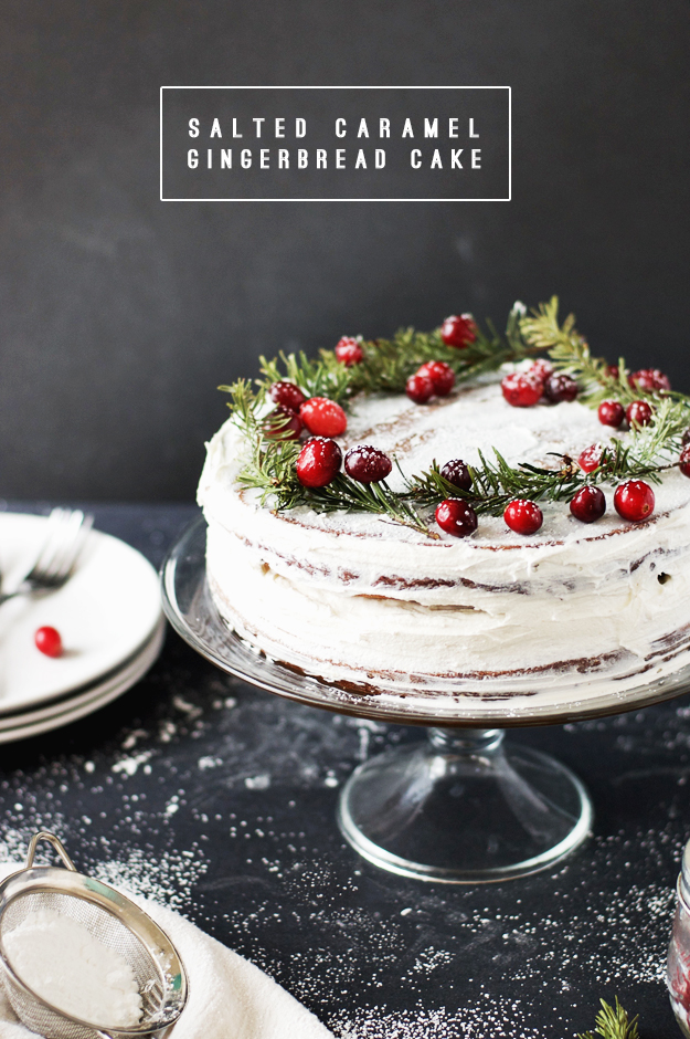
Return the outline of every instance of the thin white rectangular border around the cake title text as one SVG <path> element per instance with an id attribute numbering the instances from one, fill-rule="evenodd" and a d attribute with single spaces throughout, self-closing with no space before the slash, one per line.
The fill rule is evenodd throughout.
<path id="1" fill-rule="evenodd" d="M 163 91 L 508 91 L 508 198 L 500 199 L 172 199 L 163 198 Z M 512 87 L 510 86 L 161 86 L 160 87 L 161 202 L 510 202 L 512 200 Z"/>

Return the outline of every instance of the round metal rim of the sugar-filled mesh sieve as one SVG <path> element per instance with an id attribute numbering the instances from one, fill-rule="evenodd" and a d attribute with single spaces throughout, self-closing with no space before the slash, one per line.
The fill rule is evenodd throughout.
<path id="1" fill-rule="evenodd" d="M 17 888 L 17 890 L 12 890 Z M 97 889 L 97 890 L 94 890 Z M 141 936 L 138 927 L 131 926 L 123 919 L 121 911 L 125 910 L 127 913 L 130 913 L 135 920 L 139 923 L 144 923 L 146 928 L 152 931 L 155 935 L 160 935 L 164 943 L 167 943 L 169 952 L 172 954 L 176 961 L 176 967 L 179 968 L 180 977 L 180 988 L 178 995 L 178 1004 L 174 1007 L 170 1007 L 167 1015 L 161 1016 L 157 1019 L 149 1019 L 148 1022 L 140 1021 L 137 1025 L 107 1025 L 107 1024 L 97 1024 L 96 1021 L 85 1020 L 84 1018 L 76 1017 L 75 1015 L 68 1014 L 65 1010 L 60 1009 L 60 1007 L 54 1006 L 43 996 L 40 996 L 39 993 L 34 991 L 30 985 L 28 985 L 24 979 L 17 973 L 12 966 L 10 958 L 4 948 L 3 942 L 3 926 L 2 920 L 6 913 L 6 910 L 19 898 L 26 894 L 34 893 L 55 893 L 65 894 L 68 898 L 82 899 L 84 902 L 89 902 L 92 905 L 98 906 L 105 913 L 108 913 L 115 920 L 123 924 L 130 931 L 137 941 L 144 946 L 144 948 L 149 954 L 156 970 L 158 972 L 158 979 L 162 983 L 163 990 L 169 990 L 170 986 L 166 984 L 164 973 L 158 963 L 156 956 L 152 955 L 151 948 L 148 942 Z M 98 895 L 100 894 L 100 899 Z M 114 903 L 114 909 L 108 907 L 102 901 L 105 898 L 112 899 Z M 119 910 L 120 912 L 118 912 Z M 163 943 L 159 943 L 162 947 Z M 70 1024 L 79 1025 L 86 1029 L 91 1029 L 99 1035 L 108 1035 L 114 1037 L 134 1037 L 134 1036 L 148 1036 L 152 1032 L 157 1032 L 160 1029 L 169 1028 L 171 1025 L 176 1024 L 179 1019 L 182 1010 L 187 1005 L 189 997 L 189 978 L 187 976 L 187 970 L 184 964 L 178 953 L 173 942 L 169 935 L 160 927 L 156 921 L 149 916 L 144 910 L 141 910 L 135 902 L 128 899 L 121 892 L 117 891 L 115 888 L 110 888 L 109 884 L 104 884 L 102 881 L 93 880 L 89 877 L 86 877 L 83 873 L 78 873 L 76 870 L 65 870 L 59 869 L 55 867 L 31 867 L 30 869 L 18 870 L 14 873 L 11 873 L 0 883 L 0 962 L 7 974 L 10 976 L 11 980 L 28 996 L 36 1000 L 41 1007 L 44 1007 L 52 1014 L 57 1015 Z M 164 1007 L 164 1004 L 163 1004 Z"/>

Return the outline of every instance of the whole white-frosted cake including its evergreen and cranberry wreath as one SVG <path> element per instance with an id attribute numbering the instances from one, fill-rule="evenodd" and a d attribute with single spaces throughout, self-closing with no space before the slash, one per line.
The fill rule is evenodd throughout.
<path id="1" fill-rule="evenodd" d="M 690 668 L 690 399 L 558 309 L 221 387 L 199 501 L 227 626 L 348 695 L 516 715 Z"/>

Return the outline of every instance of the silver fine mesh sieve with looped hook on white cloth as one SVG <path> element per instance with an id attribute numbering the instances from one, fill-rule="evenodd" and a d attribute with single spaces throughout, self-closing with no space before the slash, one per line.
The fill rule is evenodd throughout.
<path id="1" fill-rule="evenodd" d="M 33 864 L 36 844 L 42 840 L 55 848 L 66 869 Z M 144 1007 L 138 1025 L 121 1028 L 107 1021 L 78 1020 L 42 999 L 19 976 L 8 956 L 4 938 L 36 910 L 53 910 L 72 917 L 127 961 Z M 0 884 L 0 964 L 12 1009 L 28 1028 L 45 1039 L 142 1039 L 145 1036 L 162 1039 L 187 1001 L 187 975 L 168 935 L 129 899 L 100 881 L 77 873 L 53 833 L 36 833 L 29 844 L 25 868 Z"/>

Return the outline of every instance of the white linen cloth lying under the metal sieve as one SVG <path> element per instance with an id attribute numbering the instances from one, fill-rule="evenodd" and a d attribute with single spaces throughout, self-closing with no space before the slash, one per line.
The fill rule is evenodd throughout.
<path id="1" fill-rule="evenodd" d="M 0 880 L 22 869 L 0 864 Z M 171 1039 L 333 1039 L 306 1007 L 244 957 L 172 910 L 131 895 L 177 947 L 189 978 L 189 998 Z M 0 990 L 0 1039 L 33 1039 Z"/>

